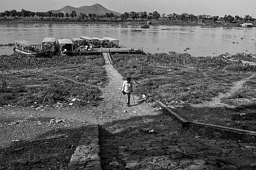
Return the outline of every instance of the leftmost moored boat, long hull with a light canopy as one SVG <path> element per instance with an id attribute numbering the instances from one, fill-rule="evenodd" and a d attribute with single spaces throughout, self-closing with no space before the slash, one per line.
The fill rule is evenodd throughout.
<path id="1" fill-rule="evenodd" d="M 27 56 L 40 56 L 41 55 L 41 44 L 35 44 L 27 40 L 16 40 L 13 42 L 13 54 L 22 54 Z"/>

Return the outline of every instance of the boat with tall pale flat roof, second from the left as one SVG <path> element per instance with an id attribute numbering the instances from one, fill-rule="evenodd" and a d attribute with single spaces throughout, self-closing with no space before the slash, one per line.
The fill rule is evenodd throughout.
<path id="1" fill-rule="evenodd" d="M 55 38 L 44 38 L 42 40 L 42 54 L 45 56 L 51 56 L 56 54 L 57 46 Z"/>

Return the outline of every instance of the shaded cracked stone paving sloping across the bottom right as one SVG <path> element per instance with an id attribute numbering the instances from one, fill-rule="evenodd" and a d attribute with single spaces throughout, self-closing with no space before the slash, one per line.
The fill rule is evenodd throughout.
<path id="1" fill-rule="evenodd" d="M 256 169 L 253 143 L 210 140 L 167 126 L 127 136 L 111 136 L 103 130 L 99 141 L 102 169 Z"/>

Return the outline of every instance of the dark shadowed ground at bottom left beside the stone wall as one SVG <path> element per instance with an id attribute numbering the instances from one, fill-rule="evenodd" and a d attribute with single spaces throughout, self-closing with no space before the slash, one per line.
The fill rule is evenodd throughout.
<path id="1" fill-rule="evenodd" d="M 68 167 L 83 130 L 58 128 L 36 136 L 36 140 L 13 142 L 0 148 L 0 169 L 62 169 Z"/>

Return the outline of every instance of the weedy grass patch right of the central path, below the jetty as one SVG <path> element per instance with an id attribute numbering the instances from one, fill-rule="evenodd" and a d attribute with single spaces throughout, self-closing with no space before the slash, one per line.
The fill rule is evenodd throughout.
<path id="1" fill-rule="evenodd" d="M 226 93 L 233 82 L 249 76 L 227 71 L 221 57 L 194 58 L 189 54 L 115 54 L 113 65 L 123 77 L 131 76 L 139 84 L 135 93 L 147 95 L 147 101 L 160 100 L 180 105 L 209 101 Z"/>

